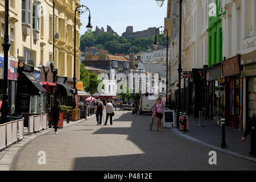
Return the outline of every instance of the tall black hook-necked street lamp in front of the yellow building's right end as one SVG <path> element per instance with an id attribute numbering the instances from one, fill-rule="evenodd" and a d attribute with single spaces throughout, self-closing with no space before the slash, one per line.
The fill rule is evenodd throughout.
<path id="1" fill-rule="evenodd" d="M 80 9 L 81 7 L 84 7 L 84 8 L 85 8 L 84 11 Z M 82 13 L 85 13 L 86 11 L 89 11 L 89 17 L 88 17 L 89 22 L 88 22 L 88 24 L 87 24 L 87 26 L 86 26 L 86 29 L 87 29 L 88 32 L 91 32 L 93 26 L 92 26 L 92 24 L 90 24 L 90 10 L 89 10 L 89 8 L 86 7 L 86 6 L 84 6 L 84 5 L 80 5 L 80 6 L 77 6 L 77 7 L 76 7 L 76 10 L 75 10 L 75 25 L 74 25 L 74 38 L 75 38 L 74 42 L 75 42 L 75 43 L 74 43 L 74 77 L 73 77 L 73 84 L 74 84 L 74 85 L 73 85 L 73 86 L 74 86 L 73 88 L 74 88 L 74 90 L 73 90 L 73 109 L 76 108 L 76 13 L 79 13 L 79 14 L 81 15 Z"/>

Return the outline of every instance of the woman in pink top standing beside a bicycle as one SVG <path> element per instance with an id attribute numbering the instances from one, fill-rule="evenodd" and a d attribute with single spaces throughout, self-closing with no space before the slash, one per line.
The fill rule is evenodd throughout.
<path id="1" fill-rule="evenodd" d="M 154 113 L 156 114 L 156 131 L 161 131 L 161 121 L 163 119 L 163 111 L 164 111 L 164 104 L 162 102 L 162 98 L 158 97 L 156 103 L 150 108 L 150 110 L 154 109 Z"/>

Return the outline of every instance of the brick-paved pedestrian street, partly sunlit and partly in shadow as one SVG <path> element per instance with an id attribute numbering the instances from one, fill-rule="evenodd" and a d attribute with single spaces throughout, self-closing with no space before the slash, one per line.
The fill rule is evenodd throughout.
<path id="1" fill-rule="evenodd" d="M 106 118 L 104 116 L 104 118 Z M 255 170 L 256 163 L 217 152 L 177 137 L 170 129 L 150 131 L 148 115 L 115 111 L 113 125 L 96 125 L 96 118 L 37 137 L 15 155 L 11 170 Z M 46 152 L 46 165 L 38 152 Z"/>

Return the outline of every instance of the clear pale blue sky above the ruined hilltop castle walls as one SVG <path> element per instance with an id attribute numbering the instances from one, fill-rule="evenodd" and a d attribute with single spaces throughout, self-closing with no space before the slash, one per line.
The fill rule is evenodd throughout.
<path id="1" fill-rule="evenodd" d="M 96 26 L 106 31 L 107 25 L 119 36 L 126 31 L 127 26 L 133 26 L 133 31 L 147 30 L 149 27 L 164 26 L 167 15 L 167 0 L 161 8 L 155 0 L 81 0 L 80 5 L 90 9 L 93 31 Z M 89 12 L 81 15 L 80 34 L 86 32 Z"/>

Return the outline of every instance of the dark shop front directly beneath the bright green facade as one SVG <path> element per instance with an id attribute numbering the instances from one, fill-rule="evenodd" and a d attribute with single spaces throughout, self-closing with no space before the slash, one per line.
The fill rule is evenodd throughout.
<path id="1" fill-rule="evenodd" d="M 207 71 L 207 117 L 208 119 L 217 120 L 219 118 L 218 110 L 218 90 L 220 84 L 218 78 L 222 77 L 221 63 L 212 65 L 206 68 Z M 221 92 L 225 92 L 222 90 Z"/>

